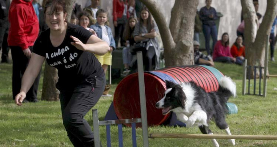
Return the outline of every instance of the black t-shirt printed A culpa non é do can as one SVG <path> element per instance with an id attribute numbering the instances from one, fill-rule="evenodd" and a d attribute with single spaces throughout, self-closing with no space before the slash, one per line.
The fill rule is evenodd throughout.
<path id="1" fill-rule="evenodd" d="M 58 47 L 54 47 L 50 41 L 50 29 L 42 32 L 34 43 L 33 52 L 46 57 L 48 65 L 58 69 L 57 89 L 70 90 L 86 79 L 105 75 L 100 62 L 92 53 L 78 50 L 70 44 L 73 42 L 70 36 L 86 44 L 91 35 L 85 28 L 68 23 L 65 38 Z"/>

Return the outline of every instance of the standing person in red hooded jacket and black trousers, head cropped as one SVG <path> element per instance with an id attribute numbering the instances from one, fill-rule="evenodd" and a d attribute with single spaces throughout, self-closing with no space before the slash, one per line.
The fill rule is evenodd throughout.
<path id="1" fill-rule="evenodd" d="M 20 92 L 23 73 L 32 55 L 32 48 L 38 37 L 39 23 L 32 0 L 13 0 L 9 10 L 10 29 L 8 45 L 13 59 L 13 99 Z M 40 74 L 26 94 L 24 102 L 37 102 Z"/>

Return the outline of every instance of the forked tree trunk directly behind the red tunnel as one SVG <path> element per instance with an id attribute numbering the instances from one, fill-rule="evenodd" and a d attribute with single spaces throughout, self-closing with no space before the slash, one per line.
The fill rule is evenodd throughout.
<path id="1" fill-rule="evenodd" d="M 199 0 L 176 0 L 169 27 L 154 0 L 141 0 L 157 22 L 164 46 L 166 66 L 192 65 L 194 19 Z"/>

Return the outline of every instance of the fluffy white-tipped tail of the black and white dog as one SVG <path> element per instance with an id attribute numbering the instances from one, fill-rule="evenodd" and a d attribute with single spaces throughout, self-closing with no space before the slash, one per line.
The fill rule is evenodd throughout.
<path id="1" fill-rule="evenodd" d="M 217 91 L 218 96 L 226 103 L 230 96 L 236 96 L 236 84 L 231 80 L 230 77 L 222 77 L 219 81 L 219 88 Z"/>

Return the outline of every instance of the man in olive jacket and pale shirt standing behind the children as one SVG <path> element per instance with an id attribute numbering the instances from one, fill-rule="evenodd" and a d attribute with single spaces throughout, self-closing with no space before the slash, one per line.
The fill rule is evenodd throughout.
<path id="1" fill-rule="evenodd" d="M 91 5 L 83 9 L 83 11 L 90 14 L 90 25 L 94 25 L 96 23 L 96 12 L 98 11 L 99 6 L 100 0 L 91 0 Z"/>

